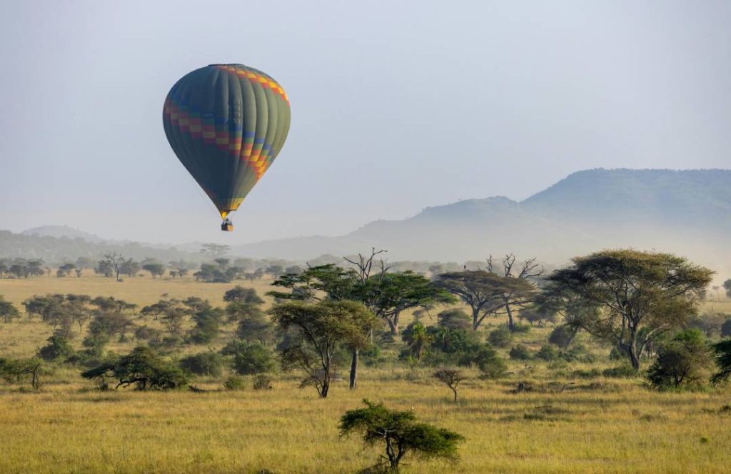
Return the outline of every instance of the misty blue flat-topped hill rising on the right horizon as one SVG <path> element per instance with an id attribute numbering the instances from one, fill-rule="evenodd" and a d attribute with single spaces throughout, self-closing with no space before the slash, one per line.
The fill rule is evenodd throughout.
<path id="1" fill-rule="evenodd" d="M 522 202 L 496 197 L 425 208 L 341 237 L 246 244 L 251 257 L 300 259 L 389 250 L 399 260 L 464 261 L 515 252 L 563 263 L 606 247 L 731 262 L 731 170 L 586 170 Z M 725 265 L 725 263 L 724 263 Z"/>

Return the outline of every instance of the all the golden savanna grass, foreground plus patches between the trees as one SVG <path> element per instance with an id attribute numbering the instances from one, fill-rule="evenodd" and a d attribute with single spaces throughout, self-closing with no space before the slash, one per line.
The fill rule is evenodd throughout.
<path id="1" fill-rule="evenodd" d="M 270 280 L 236 282 L 260 295 Z M 0 295 L 16 306 L 29 296 L 84 293 L 115 296 L 140 306 L 170 298 L 199 296 L 221 305 L 235 284 L 149 276 L 115 282 L 102 276 L 1 279 Z M 268 300 L 270 304 L 270 300 Z M 707 301 L 704 310 L 731 312 L 731 302 Z M 403 326 L 409 322 L 404 318 Z M 433 323 L 425 318 L 427 324 Z M 154 322 L 145 321 L 154 324 Z M 498 326 L 502 320 L 489 321 Z M 210 345 L 233 337 L 224 326 Z M 491 327 L 481 328 L 488 331 Z M 0 354 L 30 357 L 52 328 L 23 315 L 0 323 Z M 518 335 L 537 350 L 548 328 Z M 294 373 L 274 377 L 273 390 L 223 391 L 220 379 L 198 377 L 211 391 L 96 391 L 81 369 L 49 366 L 40 391 L 28 385 L 0 385 L 0 472 L 7 473 L 346 473 L 374 464 L 379 451 L 356 437 L 338 436 L 338 418 L 368 398 L 463 434 L 460 460 L 407 461 L 404 472 L 422 473 L 721 473 L 731 466 L 731 404 L 728 386 L 702 391 L 662 392 L 640 378 L 592 375 L 616 365 L 609 348 L 580 335 L 595 364 L 509 361 L 508 375 L 485 380 L 467 369 L 468 379 L 452 401 L 449 389 L 431 377 L 432 368 L 408 366 L 395 355 L 363 364 L 359 388 L 337 383 L 327 399 L 298 388 Z M 72 344 L 80 348 L 77 337 Z M 395 354 L 398 341 L 393 343 Z M 135 341 L 114 342 L 125 353 Z M 181 346 L 173 358 L 208 346 Z M 506 350 L 500 350 L 507 358 Z M 386 350 L 386 353 L 389 353 Z M 583 371 L 583 372 L 582 372 Z M 583 373 L 583 375 L 581 375 Z M 532 392 L 514 393 L 519 382 Z M 265 472 L 268 472 L 265 471 Z"/>

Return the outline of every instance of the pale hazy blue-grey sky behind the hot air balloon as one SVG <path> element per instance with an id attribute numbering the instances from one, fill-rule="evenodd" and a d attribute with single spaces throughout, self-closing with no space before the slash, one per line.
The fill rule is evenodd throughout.
<path id="1" fill-rule="evenodd" d="M 338 235 L 586 168 L 729 168 L 729 1 L 6 1 L 0 228 Z M 212 63 L 284 86 L 292 128 L 235 233 L 162 102 Z"/>

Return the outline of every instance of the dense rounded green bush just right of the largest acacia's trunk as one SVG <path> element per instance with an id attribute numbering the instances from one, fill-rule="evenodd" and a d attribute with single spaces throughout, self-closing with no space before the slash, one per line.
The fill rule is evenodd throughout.
<path id="1" fill-rule="evenodd" d="M 700 329 L 686 329 L 659 348 L 647 379 L 655 388 L 700 385 L 708 377 L 711 364 L 705 336 Z"/>

